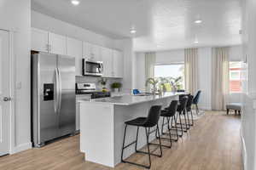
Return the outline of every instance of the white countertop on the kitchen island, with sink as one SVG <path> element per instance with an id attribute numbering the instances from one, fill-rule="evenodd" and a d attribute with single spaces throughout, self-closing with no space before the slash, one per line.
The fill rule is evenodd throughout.
<path id="1" fill-rule="evenodd" d="M 177 96 L 181 93 L 166 93 L 163 95 L 123 95 L 123 96 L 114 96 L 110 98 L 103 99 L 90 99 L 90 101 L 79 100 L 79 102 L 92 102 L 92 103 L 104 103 L 112 105 L 135 105 L 143 102 L 153 101 L 157 99 L 165 99 Z"/>

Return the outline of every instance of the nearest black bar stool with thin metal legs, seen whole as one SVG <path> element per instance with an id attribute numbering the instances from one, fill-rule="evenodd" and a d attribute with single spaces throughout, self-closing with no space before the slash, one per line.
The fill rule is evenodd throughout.
<path id="1" fill-rule="evenodd" d="M 131 121 L 125 122 L 125 134 L 124 134 L 124 140 L 123 140 L 123 147 L 122 147 L 122 154 L 121 154 L 121 161 L 125 162 L 125 163 L 131 163 L 133 165 L 137 165 L 140 167 L 146 167 L 146 168 L 150 168 L 151 167 L 151 158 L 150 155 L 152 156 L 162 156 L 162 147 L 161 147 L 161 140 L 159 139 L 159 144 L 153 144 L 153 145 L 158 145 L 160 146 L 160 155 L 154 154 L 152 152 L 150 152 L 149 150 L 149 145 L 152 143 L 148 142 L 148 137 L 151 133 L 158 133 L 158 135 L 160 136 L 160 131 L 159 131 L 159 127 L 158 127 L 158 121 L 160 118 L 160 111 L 161 111 L 161 105 L 153 105 L 150 110 L 148 111 L 148 117 L 137 117 L 136 119 L 133 119 Z M 137 127 L 137 136 L 136 136 L 136 140 L 131 142 L 131 144 L 135 144 L 135 150 L 138 153 L 143 153 L 143 154 L 147 154 L 148 155 L 148 162 L 149 165 L 143 165 L 143 164 L 138 164 L 136 162 L 131 162 L 131 161 L 125 161 L 123 159 L 123 155 L 124 155 L 124 150 L 131 146 L 131 144 L 127 144 L 125 145 L 125 135 L 126 135 L 126 129 L 127 126 L 136 126 Z M 139 127 L 144 127 L 145 128 L 145 133 L 146 133 L 146 140 L 147 140 L 147 147 L 148 147 L 148 152 L 144 152 L 144 151 L 140 151 L 137 150 L 137 138 L 138 138 L 138 131 L 139 131 Z M 156 127 L 156 129 L 154 129 L 153 131 L 150 131 L 151 127 Z M 148 129 L 147 129 L 148 128 Z"/>

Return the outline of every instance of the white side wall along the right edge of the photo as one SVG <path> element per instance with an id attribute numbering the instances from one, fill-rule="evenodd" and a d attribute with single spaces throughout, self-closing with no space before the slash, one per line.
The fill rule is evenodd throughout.
<path id="1" fill-rule="evenodd" d="M 256 3 L 242 1 L 243 111 L 241 141 L 244 170 L 256 169 Z"/>

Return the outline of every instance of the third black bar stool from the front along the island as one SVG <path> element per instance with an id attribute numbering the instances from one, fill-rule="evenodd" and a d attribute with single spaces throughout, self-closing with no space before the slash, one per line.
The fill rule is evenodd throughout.
<path id="1" fill-rule="evenodd" d="M 183 98 L 180 99 L 179 101 L 179 105 L 177 105 L 177 112 L 178 112 L 178 119 L 179 119 L 179 122 L 177 122 L 177 119 L 176 119 L 176 122 L 177 122 L 177 126 L 178 127 L 178 131 L 181 132 L 181 134 L 179 134 L 180 137 L 183 136 L 183 132 L 186 133 L 189 129 L 188 127 L 188 123 L 187 123 L 187 118 L 186 118 L 186 106 L 187 106 L 187 102 L 188 102 L 188 97 L 187 96 L 184 96 Z M 181 120 L 181 115 L 184 116 L 184 120 L 185 120 L 185 123 L 182 122 Z M 183 127 L 185 126 L 185 127 Z"/>

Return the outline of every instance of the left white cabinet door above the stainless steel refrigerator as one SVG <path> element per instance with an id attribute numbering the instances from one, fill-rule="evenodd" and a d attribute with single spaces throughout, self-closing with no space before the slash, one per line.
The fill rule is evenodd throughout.
<path id="1" fill-rule="evenodd" d="M 31 46 L 32 50 L 48 53 L 48 31 L 32 28 Z"/>

